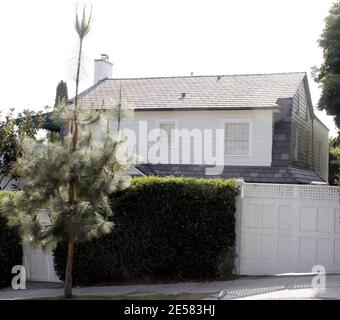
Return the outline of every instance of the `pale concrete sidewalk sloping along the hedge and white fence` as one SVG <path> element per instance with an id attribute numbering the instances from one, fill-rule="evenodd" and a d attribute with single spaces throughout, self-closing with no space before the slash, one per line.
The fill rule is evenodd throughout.
<path id="1" fill-rule="evenodd" d="M 326 276 L 326 288 L 312 288 L 313 275 L 240 277 L 231 281 L 201 283 L 76 287 L 74 295 L 122 296 L 193 293 L 204 299 L 340 299 L 340 274 Z M 60 283 L 27 283 L 26 290 L 0 289 L 0 299 L 30 299 L 62 296 Z"/>

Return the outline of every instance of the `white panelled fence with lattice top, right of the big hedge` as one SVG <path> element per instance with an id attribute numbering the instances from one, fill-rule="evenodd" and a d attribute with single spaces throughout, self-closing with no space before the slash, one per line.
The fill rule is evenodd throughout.
<path id="1" fill-rule="evenodd" d="M 339 187 L 242 185 L 237 204 L 237 273 L 340 272 Z"/>

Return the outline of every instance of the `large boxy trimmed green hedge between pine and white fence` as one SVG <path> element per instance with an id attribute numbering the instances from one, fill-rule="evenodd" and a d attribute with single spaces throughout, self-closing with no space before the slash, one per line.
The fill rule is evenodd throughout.
<path id="1" fill-rule="evenodd" d="M 113 231 L 75 249 L 75 282 L 223 278 L 233 270 L 234 180 L 138 177 L 112 196 Z M 54 251 L 64 279 L 66 244 Z"/>

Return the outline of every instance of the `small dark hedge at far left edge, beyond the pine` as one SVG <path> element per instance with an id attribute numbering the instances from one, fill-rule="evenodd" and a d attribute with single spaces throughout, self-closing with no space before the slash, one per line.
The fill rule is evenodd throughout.
<path id="1" fill-rule="evenodd" d="M 14 192 L 0 191 L 0 200 Z M 0 211 L 0 288 L 11 285 L 13 266 L 22 264 L 22 245 L 17 229 L 9 228 Z"/>

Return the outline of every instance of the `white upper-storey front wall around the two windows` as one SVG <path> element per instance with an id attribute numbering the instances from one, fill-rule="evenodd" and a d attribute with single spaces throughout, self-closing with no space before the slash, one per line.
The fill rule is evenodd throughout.
<path id="1" fill-rule="evenodd" d="M 242 111 L 138 111 L 134 118 L 122 123 L 122 127 L 132 130 L 137 138 L 137 153 L 148 163 L 172 164 L 216 164 L 209 159 L 208 154 L 216 155 L 216 132 L 224 129 L 225 121 L 248 121 L 250 123 L 250 155 L 226 156 L 224 165 L 238 166 L 270 166 L 272 162 L 272 110 L 242 110 Z M 156 148 L 155 141 L 145 141 L 145 132 L 141 127 L 147 125 L 147 135 L 158 127 L 160 121 L 174 121 L 176 129 L 187 129 L 189 132 L 199 130 L 202 133 L 202 152 L 197 150 L 193 140 L 190 145 L 182 143 L 170 148 L 156 157 L 150 155 L 151 148 Z M 211 129 L 213 139 L 204 139 L 204 129 Z M 130 139 L 132 142 L 132 139 Z M 149 139 L 148 139 L 149 140 Z M 131 146 L 130 146 L 131 147 Z M 224 145 L 223 145 L 224 147 Z M 158 149 L 160 150 L 159 146 Z M 212 150 L 212 152 L 209 152 Z M 200 154 L 203 156 L 200 156 Z M 195 155 L 195 156 L 194 156 Z"/>

